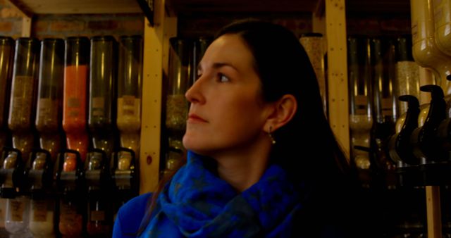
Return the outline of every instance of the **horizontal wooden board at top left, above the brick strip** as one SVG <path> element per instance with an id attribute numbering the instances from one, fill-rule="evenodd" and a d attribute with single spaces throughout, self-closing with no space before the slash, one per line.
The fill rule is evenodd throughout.
<path id="1" fill-rule="evenodd" d="M 137 0 L 9 0 L 27 15 L 142 13 Z"/>

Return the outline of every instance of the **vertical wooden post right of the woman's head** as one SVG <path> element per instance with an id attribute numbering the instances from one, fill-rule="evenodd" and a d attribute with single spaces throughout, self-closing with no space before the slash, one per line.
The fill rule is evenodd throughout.
<path id="1" fill-rule="evenodd" d="M 342 149 L 350 153 L 345 0 L 326 0 L 329 122 Z"/>

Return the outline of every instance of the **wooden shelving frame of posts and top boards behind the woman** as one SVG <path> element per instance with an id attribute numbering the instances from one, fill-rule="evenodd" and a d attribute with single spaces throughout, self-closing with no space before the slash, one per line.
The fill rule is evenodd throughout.
<path id="1" fill-rule="evenodd" d="M 136 0 L 6 1 L 22 13 L 24 37 L 30 36 L 34 14 L 142 13 Z M 159 182 L 162 80 L 168 67 L 168 39 L 176 35 L 179 13 L 311 13 L 313 30 L 327 39 L 328 118 L 349 153 L 346 13 L 409 14 L 409 6 L 409 0 L 155 0 L 154 25 L 147 19 L 144 24 L 140 192 L 154 191 Z M 428 189 L 426 194 L 428 233 L 434 238 L 440 237 L 440 200 L 436 192 Z"/>

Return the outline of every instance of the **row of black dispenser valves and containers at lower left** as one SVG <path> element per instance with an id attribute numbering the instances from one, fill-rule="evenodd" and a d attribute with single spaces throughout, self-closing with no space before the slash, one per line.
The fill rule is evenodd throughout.
<path id="1" fill-rule="evenodd" d="M 109 157 L 93 149 L 83 162 L 78 151 L 65 150 L 52 161 L 49 151 L 37 149 L 24 160 L 18 149 L 4 148 L 0 196 L 8 205 L 0 215 L 4 215 L 6 232 L 10 237 L 28 237 L 27 233 L 32 237 L 111 237 L 118 208 L 139 192 L 139 175 L 131 149 L 121 148 Z M 20 214 L 23 208 L 8 211 L 9 202 L 22 197 L 31 205 L 41 204 L 30 211 L 41 211 L 27 219 Z M 53 210 L 53 217 L 43 219 L 46 209 Z M 37 218 L 47 223 L 32 223 Z"/>

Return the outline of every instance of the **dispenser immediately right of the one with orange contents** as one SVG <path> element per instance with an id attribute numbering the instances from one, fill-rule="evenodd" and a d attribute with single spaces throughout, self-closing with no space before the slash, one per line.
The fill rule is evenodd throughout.
<path id="1" fill-rule="evenodd" d="M 91 38 L 88 126 L 93 149 L 85 161 L 87 185 L 87 234 L 107 237 L 111 230 L 110 184 L 106 177 L 116 150 L 116 59 L 112 36 Z"/>

